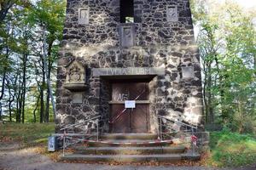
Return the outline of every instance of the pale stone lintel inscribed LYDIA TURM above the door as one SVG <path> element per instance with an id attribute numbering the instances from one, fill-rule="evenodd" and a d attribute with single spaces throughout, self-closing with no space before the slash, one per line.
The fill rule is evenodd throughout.
<path id="1" fill-rule="evenodd" d="M 129 68 L 94 68 L 93 77 L 132 76 L 132 75 L 165 75 L 165 68 L 129 67 Z"/>

